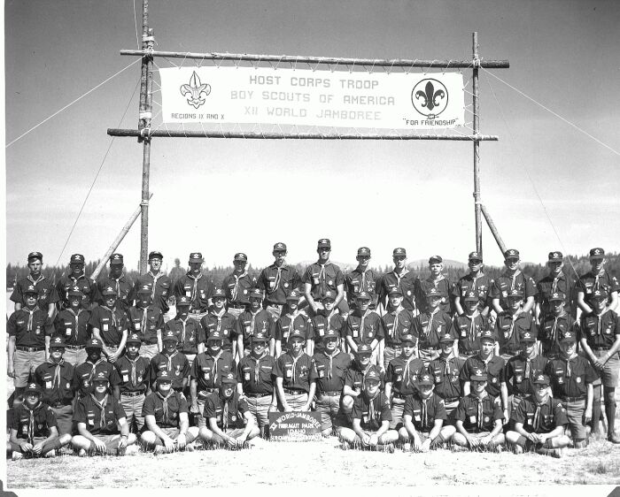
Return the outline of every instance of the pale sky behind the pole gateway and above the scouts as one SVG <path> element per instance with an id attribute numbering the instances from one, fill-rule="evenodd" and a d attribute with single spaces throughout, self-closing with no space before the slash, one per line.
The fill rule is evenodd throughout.
<path id="1" fill-rule="evenodd" d="M 510 62 L 494 74 L 620 150 L 616 1 L 150 5 L 159 50 L 470 59 L 478 31 L 483 58 Z M 19 0 L 4 13 L 7 143 L 135 60 L 119 54 L 136 48 L 131 0 Z M 136 127 L 137 94 L 119 123 L 139 77 L 137 64 L 6 149 L 8 262 L 25 264 L 39 250 L 56 263 L 112 140 L 106 129 Z M 618 155 L 482 71 L 480 91 L 481 133 L 500 136 L 481 143 L 482 199 L 508 247 L 532 262 L 550 250 L 620 249 Z M 354 262 L 362 245 L 373 265 L 390 264 L 399 246 L 411 260 L 438 253 L 466 261 L 475 248 L 472 149 L 453 141 L 153 139 L 149 249 L 163 252 L 168 267 L 197 250 L 207 265 L 244 251 L 261 266 L 275 241 L 297 262 L 314 259 L 316 241 L 328 237 L 337 261 Z M 74 252 L 104 255 L 140 202 L 142 153 L 135 139 L 114 140 L 61 263 Z M 485 263 L 501 264 L 486 226 L 483 240 Z M 119 251 L 137 267 L 139 221 Z"/>

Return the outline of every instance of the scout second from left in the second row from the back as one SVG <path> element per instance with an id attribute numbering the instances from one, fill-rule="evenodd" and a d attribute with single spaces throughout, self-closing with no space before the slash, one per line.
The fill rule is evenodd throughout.
<path id="1" fill-rule="evenodd" d="M 79 287 L 70 288 L 66 294 L 68 303 L 54 320 L 54 335 L 65 340 L 64 360 L 77 366 L 86 361 L 86 340 L 90 337 L 91 312 L 82 308 L 84 301 Z"/>

